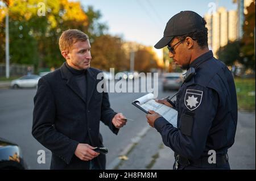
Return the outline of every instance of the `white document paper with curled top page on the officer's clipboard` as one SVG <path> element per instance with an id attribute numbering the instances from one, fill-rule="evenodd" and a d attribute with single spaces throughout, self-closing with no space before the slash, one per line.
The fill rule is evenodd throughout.
<path id="1" fill-rule="evenodd" d="M 154 94 L 144 95 L 136 99 L 135 102 L 146 111 L 153 110 L 158 112 L 164 119 L 177 128 L 177 111 L 174 108 L 155 102 Z"/>

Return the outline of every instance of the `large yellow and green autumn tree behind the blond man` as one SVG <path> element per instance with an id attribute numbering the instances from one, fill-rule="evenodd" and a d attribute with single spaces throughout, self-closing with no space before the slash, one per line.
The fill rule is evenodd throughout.
<path id="1" fill-rule="evenodd" d="M 79 29 L 92 37 L 107 28 L 98 23 L 100 11 L 80 2 L 68 0 L 9 0 L 10 62 L 34 64 L 39 67 L 59 67 L 64 62 L 58 40 L 67 29 Z M 5 12 L 0 9 L 0 62 L 5 61 Z"/>

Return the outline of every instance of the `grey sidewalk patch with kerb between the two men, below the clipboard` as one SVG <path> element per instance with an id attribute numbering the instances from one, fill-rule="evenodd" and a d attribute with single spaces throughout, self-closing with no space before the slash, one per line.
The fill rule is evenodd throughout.
<path id="1" fill-rule="evenodd" d="M 110 163 L 107 169 L 118 170 L 170 170 L 174 163 L 174 152 L 163 145 L 162 137 L 155 128 L 148 126 L 146 133 L 139 133 L 120 154 L 123 159 Z M 144 131 L 145 132 L 145 131 Z M 129 149 L 130 148 L 130 149 Z M 127 160 L 125 160 L 127 157 Z"/>

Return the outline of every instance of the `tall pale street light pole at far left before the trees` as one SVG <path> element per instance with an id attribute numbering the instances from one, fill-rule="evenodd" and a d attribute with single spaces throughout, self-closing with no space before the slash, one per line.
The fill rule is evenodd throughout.
<path id="1" fill-rule="evenodd" d="M 6 10 L 6 18 L 5 18 L 5 60 L 6 60 L 6 78 L 10 77 L 10 68 L 9 68 L 9 12 L 8 7 Z"/>

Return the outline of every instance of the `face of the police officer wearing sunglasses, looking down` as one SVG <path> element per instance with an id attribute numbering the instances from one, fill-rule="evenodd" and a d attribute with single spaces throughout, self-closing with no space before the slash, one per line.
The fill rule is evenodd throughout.
<path id="1" fill-rule="evenodd" d="M 187 69 L 191 56 L 189 55 L 186 40 L 180 41 L 180 43 L 179 41 L 180 40 L 175 37 L 169 44 L 169 47 L 174 46 L 174 53 L 169 51 L 169 57 L 172 58 L 175 64 L 178 65 L 181 69 Z"/>

